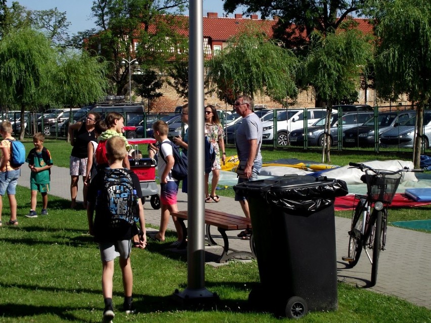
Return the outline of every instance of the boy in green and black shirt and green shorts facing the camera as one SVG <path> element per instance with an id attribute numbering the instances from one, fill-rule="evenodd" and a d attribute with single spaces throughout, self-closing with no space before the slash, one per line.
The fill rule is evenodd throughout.
<path id="1" fill-rule="evenodd" d="M 45 136 L 41 132 L 36 132 L 33 135 L 34 148 L 28 153 L 27 159 L 28 168 L 30 168 L 30 212 L 26 217 L 37 217 L 36 203 L 37 191 L 42 195 L 42 215 L 48 215 L 48 192 L 50 191 L 51 166 L 53 160 L 51 153 L 44 147 Z"/>

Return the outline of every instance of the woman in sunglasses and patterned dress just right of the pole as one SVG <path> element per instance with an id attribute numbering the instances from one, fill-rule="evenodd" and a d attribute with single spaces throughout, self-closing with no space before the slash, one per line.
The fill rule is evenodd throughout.
<path id="1" fill-rule="evenodd" d="M 220 123 L 219 114 L 215 107 L 212 105 L 208 105 L 205 107 L 205 135 L 208 137 L 208 140 L 215 152 L 215 160 L 212 164 L 211 172 L 211 194 L 209 194 L 209 172 L 205 171 L 205 203 L 211 202 L 219 202 L 220 197 L 215 194 L 215 189 L 217 188 L 217 184 L 220 179 L 220 169 L 222 169 L 220 162 L 220 149 L 222 150 L 222 160 L 225 162 L 226 153 L 225 153 L 225 143 L 223 141 L 223 127 Z"/>

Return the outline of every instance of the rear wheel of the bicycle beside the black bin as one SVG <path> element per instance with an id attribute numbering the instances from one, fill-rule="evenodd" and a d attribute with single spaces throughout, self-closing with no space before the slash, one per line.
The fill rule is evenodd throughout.
<path id="1" fill-rule="evenodd" d="M 352 228 L 349 232 L 349 250 L 348 250 L 348 262 L 351 267 L 354 267 L 361 256 L 362 249 L 364 247 L 364 240 L 362 235 L 362 221 L 364 213 L 366 213 L 367 207 L 366 202 L 360 200 L 355 208 L 355 213 L 352 218 Z"/>

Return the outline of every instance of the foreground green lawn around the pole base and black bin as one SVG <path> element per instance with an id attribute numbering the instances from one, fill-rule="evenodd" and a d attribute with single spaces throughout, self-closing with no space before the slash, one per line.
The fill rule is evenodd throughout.
<path id="1" fill-rule="evenodd" d="M 30 191 L 18 187 L 18 213 L 29 209 Z M 4 198 L 3 219 L 9 218 Z M 103 311 L 101 262 L 87 235 L 85 212 L 68 209 L 69 201 L 50 196 L 49 215 L 19 218 L 19 227 L 0 228 L 0 322 L 100 322 Z M 5 221 L 6 222 L 6 221 Z M 116 311 L 114 322 L 280 322 L 272 313 L 250 308 L 248 293 L 259 281 L 256 261 L 205 266 L 205 287 L 217 293 L 217 306 L 187 308 L 171 299 L 187 288 L 185 255 L 151 242 L 134 249 L 134 302 L 139 311 Z M 277 291 L 283 293 L 284 291 Z M 114 307 L 122 304 L 121 274 L 114 273 Z M 287 319 L 285 320 L 287 321 Z M 338 310 L 310 312 L 303 322 L 430 322 L 431 311 L 396 297 L 338 283 Z"/>

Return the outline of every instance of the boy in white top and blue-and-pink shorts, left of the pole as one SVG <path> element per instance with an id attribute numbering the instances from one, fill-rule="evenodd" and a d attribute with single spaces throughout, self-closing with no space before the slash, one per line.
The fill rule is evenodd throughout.
<path id="1" fill-rule="evenodd" d="M 157 163 L 157 172 L 160 178 L 160 228 L 157 233 L 149 234 L 148 237 L 156 241 L 164 241 L 164 235 L 169 222 L 170 212 L 177 212 L 177 194 L 179 179 L 172 174 L 172 168 L 175 164 L 172 143 L 167 139 L 168 125 L 162 120 L 153 123 L 154 138 L 160 143 L 159 161 Z M 171 244 L 171 247 L 178 247 L 183 239 L 183 230 L 176 216 L 173 216 L 175 228 L 177 229 L 177 241 Z"/>

